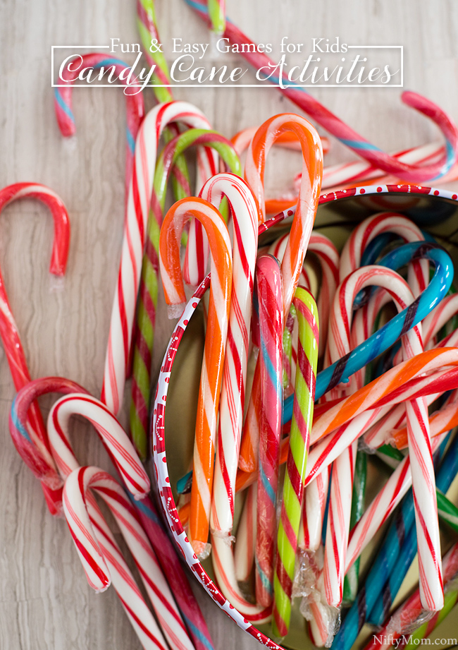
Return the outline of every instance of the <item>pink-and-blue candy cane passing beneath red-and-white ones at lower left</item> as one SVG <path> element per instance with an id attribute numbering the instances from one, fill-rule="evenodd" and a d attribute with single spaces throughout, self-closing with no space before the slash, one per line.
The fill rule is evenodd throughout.
<path id="1" fill-rule="evenodd" d="M 10 431 L 13 438 L 27 436 L 27 431 L 25 431 L 27 411 L 29 411 L 30 405 L 37 397 L 45 395 L 48 392 L 69 393 L 85 392 L 85 390 L 78 384 L 59 377 L 42 378 L 28 383 L 18 392 L 11 407 Z M 98 405 L 101 406 L 99 403 Z M 106 407 L 103 407 L 103 409 L 106 409 Z M 116 429 L 118 431 L 118 427 Z M 105 429 L 102 428 L 99 430 L 99 433 L 104 435 L 104 431 Z M 107 447 L 107 451 L 110 453 L 109 447 Z M 171 539 L 168 536 L 168 531 L 166 531 L 164 524 L 161 522 L 159 512 L 149 497 L 144 497 L 140 501 L 133 500 L 132 505 L 135 507 L 136 516 L 142 523 L 143 529 L 154 549 L 154 553 L 156 553 L 159 559 L 168 584 L 170 584 L 173 590 L 175 601 L 180 607 L 182 618 L 188 627 L 190 637 L 194 642 L 194 647 L 196 650 L 211 650 L 213 644 L 209 630 L 206 627 L 202 612 L 194 598 L 180 560 L 175 553 Z M 171 611 L 174 607 L 175 604 L 171 600 Z"/>

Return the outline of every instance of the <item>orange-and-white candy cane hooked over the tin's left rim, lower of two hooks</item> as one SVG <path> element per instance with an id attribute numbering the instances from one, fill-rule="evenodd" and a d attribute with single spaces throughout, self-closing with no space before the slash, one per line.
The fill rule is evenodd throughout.
<path id="1" fill-rule="evenodd" d="M 194 442 L 190 538 L 199 558 L 209 553 L 207 539 L 213 486 L 213 462 L 221 381 L 232 290 L 232 248 L 220 212 L 201 198 L 185 198 L 168 210 L 161 228 L 159 263 L 166 302 L 175 313 L 185 302 L 180 266 L 180 236 L 188 219 L 202 223 L 210 245 L 211 286 Z M 172 311 L 173 313 L 173 311 Z"/>

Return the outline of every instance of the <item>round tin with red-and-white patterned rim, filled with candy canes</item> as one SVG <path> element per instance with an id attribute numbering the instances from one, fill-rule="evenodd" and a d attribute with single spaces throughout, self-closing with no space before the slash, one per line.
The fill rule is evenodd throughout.
<path id="1" fill-rule="evenodd" d="M 266 152 L 286 131 L 304 155 L 299 196 L 270 217 Z M 320 195 L 321 169 L 313 127 L 276 116 L 249 143 L 245 180 L 216 174 L 163 219 L 178 322 L 152 457 L 180 553 L 237 625 L 271 647 L 349 649 L 369 623 L 378 647 L 426 634 L 414 622 L 434 626 L 458 597 L 445 495 L 458 471 L 458 203 L 406 184 Z M 187 222 L 208 241 L 189 300 Z M 393 609 L 416 553 L 414 591 Z"/>

